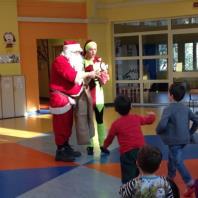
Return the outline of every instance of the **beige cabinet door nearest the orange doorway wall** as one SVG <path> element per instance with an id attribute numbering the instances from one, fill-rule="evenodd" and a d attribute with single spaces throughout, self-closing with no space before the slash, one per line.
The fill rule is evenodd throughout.
<path id="1" fill-rule="evenodd" d="M 25 78 L 13 76 L 15 116 L 24 116 L 26 112 Z"/>

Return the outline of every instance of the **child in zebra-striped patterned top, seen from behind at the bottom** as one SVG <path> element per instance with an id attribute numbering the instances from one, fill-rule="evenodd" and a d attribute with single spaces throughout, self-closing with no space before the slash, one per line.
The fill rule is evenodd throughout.
<path id="1" fill-rule="evenodd" d="M 137 166 L 141 175 L 120 188 L 124 198 L 173 198 L 173 192 L 166 177 L 157 176 L 162 153 L 156 147 L 145 145 L 138 152 Z"/>

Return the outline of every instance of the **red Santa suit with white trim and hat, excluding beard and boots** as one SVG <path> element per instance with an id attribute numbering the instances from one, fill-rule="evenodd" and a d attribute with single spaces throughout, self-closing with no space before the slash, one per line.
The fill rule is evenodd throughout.
<path id="1" fill-rule="evenodd" d="M 67 50 L 78 51 L 80 45 L 64 43 Z M 56 145 L 69 142 L 73 125 L 73 105 L 75 98 L 82 90 L 82 83 L 77 83 L 78 71 L 70 64 L 70 60 L 60 55 L 56 57 L 51 68 L 50 81 L 50 110 L 53 114 L 53 130 Z"/>

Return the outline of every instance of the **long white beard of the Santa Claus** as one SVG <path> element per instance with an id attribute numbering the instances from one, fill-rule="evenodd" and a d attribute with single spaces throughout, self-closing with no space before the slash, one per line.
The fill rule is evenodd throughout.
<path id="1" fill-rule="evenodd" d="M 68 50 L 63 51 L 62 55 L 68 58 L 69 63 L 76 71 L 83 71 L 84 65 L 83 65 L 83 57 L 81 54 L 73 53 Z"/>

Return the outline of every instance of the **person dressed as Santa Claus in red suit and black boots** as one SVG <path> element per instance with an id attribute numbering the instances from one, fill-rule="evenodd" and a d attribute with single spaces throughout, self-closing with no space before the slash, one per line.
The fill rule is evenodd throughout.
<path id="1" fill-rule="evenodd" d="M 82 48 L 76 41 L 65 41 L 63 52 L 51 68 L 50 110 L 57 145 L 56 161 L 74 161 L 81 155 L 69 144 L 73 125 L 73 106 L 83 91 L 83 80 L 95 78 L 95 72 L 83 71 Z"/>

